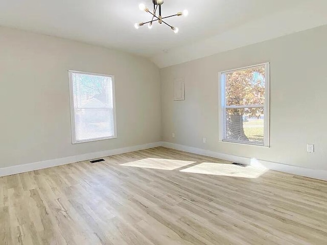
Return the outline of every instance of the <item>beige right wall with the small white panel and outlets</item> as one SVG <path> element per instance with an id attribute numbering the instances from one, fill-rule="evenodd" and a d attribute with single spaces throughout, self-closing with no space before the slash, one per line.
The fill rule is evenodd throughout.
<path id="1" fill-rule="evenodd" d="M 270 148 L 219 142 L 218 72 L 263 62 L 270 62 Z M 327 169 L 326 70 L 327 26 L 163 68 L 162 139 L 219 153 Z M 185 101 L 173 101 L 175 78 L 185 79 Z M 207 143 L 202 143 L 202 137 Z M 307 143 L 315 144 L 315 153 L 307 153 Z"/>

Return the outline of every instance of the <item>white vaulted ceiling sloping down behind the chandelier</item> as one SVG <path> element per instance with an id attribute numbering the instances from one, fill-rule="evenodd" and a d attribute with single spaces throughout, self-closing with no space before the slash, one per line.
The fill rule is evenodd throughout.
<path id="1" fill-rule="evenodd" d="M 327 24 L 325 0 L 165 0 L 162 15 L 188 17 L 149 30 L 134 28 L 151 0 L 0 0 L 0 26 L 63 37 L 142 55 L 159 67 Z M 165 53 L 163 51 L 166 51 Z"/>

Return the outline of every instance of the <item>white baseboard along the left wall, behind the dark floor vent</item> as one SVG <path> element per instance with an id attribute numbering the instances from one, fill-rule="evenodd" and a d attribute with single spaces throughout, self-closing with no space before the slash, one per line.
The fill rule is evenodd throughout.
<path id="1" fill-rule="evenodd" d="M 107 156 L 112 156 L 112 155 L 117 155 L 117 154 L 122 154 L 122 153 L 127 153 L 127 152 L 134 152 L 134 151 L 154 148 L 157 146 L 161 146 L 161 142 L 135 145 L 135 146 L 125 147 L 125 148 L 120 148 L 120 149 L 114 149 L 114 150 L 108 150 L 108 151 L 102 151 L 102 152 L 93 152 L 93 153 L 87 153 L 87 154 L 83 154 L 83 155 L 64 157 L 64 158 L 46 160 L 46 161 L 41 161 L 41 162 L 33 162 L 33 163 L 16 165 L 16 166 L 11 166 L 11 167 L 4 167 L 4 168 L 0 168 L 0 177 L 25 173 L 25 172 L 39 170 L 39 169 L 48 168 L 48 167 L 65 165 L 68 163 L 86 161 L 86 160 L 100 158 L 100 157 L 107 157 Z"/>

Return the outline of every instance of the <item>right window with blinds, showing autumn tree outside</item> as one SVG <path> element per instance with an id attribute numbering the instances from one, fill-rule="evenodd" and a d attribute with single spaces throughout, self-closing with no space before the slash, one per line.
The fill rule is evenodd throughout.
<path id="1" fill-rule="evenodd" d="M 221 141 L 269 146 L 269 63 L 220 72 Z"/>

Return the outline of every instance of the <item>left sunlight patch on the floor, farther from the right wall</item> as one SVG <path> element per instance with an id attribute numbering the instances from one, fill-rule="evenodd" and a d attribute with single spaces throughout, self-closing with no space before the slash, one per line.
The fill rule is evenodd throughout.
<path id="1" fill-rule="evenodd" d="M 145 158 L 142 160 L 123 163 L 120 165 L 130 166 L 130 167 L 145 167 L 145 168 L 155 168 L 155 169 L 164 169 L 164 170 L 174 170 L 176 168 L 180 168 L 192 163 L 196 163 L 196 162 L 172 160 L 172 159 L 160 159 L 160 158 Z"/>

